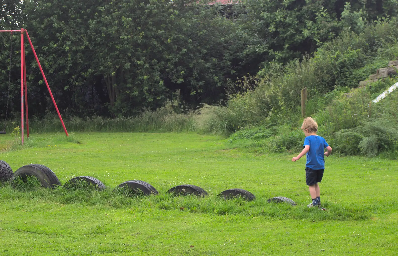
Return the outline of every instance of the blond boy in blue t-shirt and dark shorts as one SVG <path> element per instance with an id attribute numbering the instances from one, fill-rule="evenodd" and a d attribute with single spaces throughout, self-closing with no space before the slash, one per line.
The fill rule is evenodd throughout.
<path id="1" fill-rule="evenodd" d="M 325 169 L 324 156 L 330 156 L 332 148 L 323 137 L 316 135 L 318 132 L 318 124 L 311 117 L 306 117 L 301 126 L 304 132 L 304 149 L 297 157 L 292 158 L 296 162 L 302 156 L 307 154 L 307 164 L 305 165 L 305 181 L 310 190 L 312 203 L 308 207 L 318 207 L 321 210 L 326 210 L 321 207 L 321 198 L 318 182 L 322 181 L 322 176 Z M 326 148 L 326 152 L 324 152 Z"/>

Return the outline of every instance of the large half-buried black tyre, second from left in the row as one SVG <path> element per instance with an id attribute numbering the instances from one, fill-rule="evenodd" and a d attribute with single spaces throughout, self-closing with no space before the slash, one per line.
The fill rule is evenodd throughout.
<path id="1" fill-rule="evenodd" d="M 35 176 L 45 188 L 53 189 L 60 185 L 57 175 L 48 167 L 41 164 L 28 164 L 19 168 L 11 177 L 10 183 L 14 185 L 14 180 L 20 177 L 22 181 L 26 180 L 28 176 Z"/>

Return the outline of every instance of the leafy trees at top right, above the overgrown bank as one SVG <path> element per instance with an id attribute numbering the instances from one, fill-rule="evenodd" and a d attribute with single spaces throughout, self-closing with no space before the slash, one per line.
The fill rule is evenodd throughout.
<path id="1" fill-rule="evenodd" d="M 258 50 L 263 61 L 283 63 L 314 52 L 322 42 L 337 37 L 341 31 L 363 32 L 368 21 L 388 15 L 394 17 L 398 10 L 396 1 L 242 2 L 234 6 L 235 11 L 241 13 L 237 23 L 261 42 L 252 47 Z"/>

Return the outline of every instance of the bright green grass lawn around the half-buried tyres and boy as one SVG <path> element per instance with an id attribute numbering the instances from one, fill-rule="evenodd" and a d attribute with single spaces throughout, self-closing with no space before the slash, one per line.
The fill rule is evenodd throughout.
<path id="1" fill-rule="evenodd" d="M 14 169 L 43 164 L 61 183 L 100 179 L 103 192 L 0 188 L 0 255 L 397 255 L 398 162 L 330 156 L 323 212 L 310 203 L 305 158 L 226 149 L 220 137 L 189 133 L 32 135 L 24 147 L 0 137 L 0 159 Z M 80 143 L 76 143 L 80 142 Z M 10 147 L 11 149 L 5 149 Z M 112 189 L 152 184 L 156 196 Z M 198 185 L 205 198 L 174 197 L 175 185 Z M 256 200 L 222 200 L 242 188 Z M 269 204 L 287 196 L 297 206 Z"/>

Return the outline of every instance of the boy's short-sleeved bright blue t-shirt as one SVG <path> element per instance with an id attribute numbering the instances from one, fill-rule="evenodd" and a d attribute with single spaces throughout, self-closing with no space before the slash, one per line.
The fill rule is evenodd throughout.
<path id="1" fill-rule="evenodd" d="M 307 153 L 305 166 L 313 170 L 325 169 L 324 152 L 329 146 L 328 142 L 323 137 L 311 135 L 305 137 L 303 147 L 305 148 L 306 145 L 310 146 L 310 150 Z"/>

